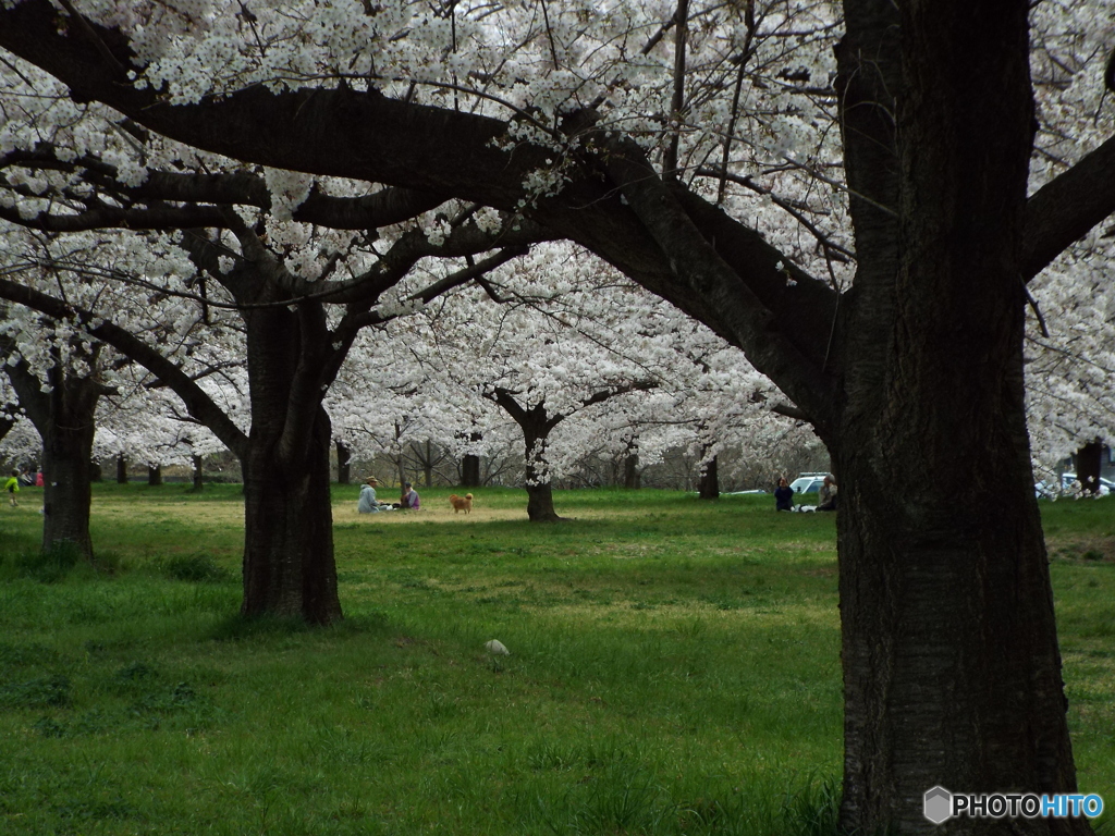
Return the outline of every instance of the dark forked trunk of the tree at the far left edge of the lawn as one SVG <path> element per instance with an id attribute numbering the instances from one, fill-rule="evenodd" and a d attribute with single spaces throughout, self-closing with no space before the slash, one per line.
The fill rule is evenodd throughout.
<path id="1" fill-rule="evenodd" d="M 71 544 L 93 560 L 89 507 L 94 416 L 106 389 L 96 378 L 69 375 L 58 366 L 48 372 L 49 392 L 41 390 L 41 381 L 23 361 L 8 366 L 7 371 L 20 406 L 42 439 L 42 550 Z"/>

